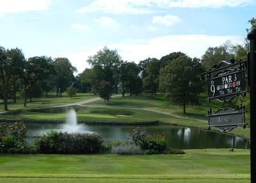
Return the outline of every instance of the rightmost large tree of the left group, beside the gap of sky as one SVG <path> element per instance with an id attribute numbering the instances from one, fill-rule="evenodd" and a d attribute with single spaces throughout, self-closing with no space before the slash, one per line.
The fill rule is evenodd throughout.
<path id="1" fill-rule="evenodd" d="M 74 81 L 74 72 L 77 72 L 77 68 L 72 66 L 67 58 L 55 58 L 52 64 L 55 70 L 56 95 L 58 96 L 59 88 L 61 88 L 62 96 L 62 92 Z"/>

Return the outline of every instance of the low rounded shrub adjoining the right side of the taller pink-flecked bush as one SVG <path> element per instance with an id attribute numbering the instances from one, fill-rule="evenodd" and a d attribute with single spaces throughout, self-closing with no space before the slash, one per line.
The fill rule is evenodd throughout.
<path id="1" fill-rule="evenodd" d="M 155 151 L 163 151 L 166 149 L 165 136 L 162 135 L 147 135 L 141 142 L 142 149 L 154 149 Z"/>

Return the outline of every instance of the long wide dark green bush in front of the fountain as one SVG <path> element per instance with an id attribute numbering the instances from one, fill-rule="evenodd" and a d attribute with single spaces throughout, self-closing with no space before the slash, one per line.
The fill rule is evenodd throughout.
<path id="1" fill-rule="evenodd" d="M 35 143 L 39 153 L 91 154 L 102 149 L 102 137 L 96 133 L 50 131 Z"/>

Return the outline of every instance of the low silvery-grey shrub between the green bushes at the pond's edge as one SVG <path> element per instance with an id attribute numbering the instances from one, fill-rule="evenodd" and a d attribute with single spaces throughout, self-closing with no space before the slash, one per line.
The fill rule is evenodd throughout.
<path id="1" fill-rule="evenodd" d="M 116 145 L 112 147 L 111 153 L 113 154 L 123 154 L 123 155 L 128 155 L 128 154 L 142 154 L 141 147 L 139 145 L 135 144 L 126 144 L 126 145 Z"/>

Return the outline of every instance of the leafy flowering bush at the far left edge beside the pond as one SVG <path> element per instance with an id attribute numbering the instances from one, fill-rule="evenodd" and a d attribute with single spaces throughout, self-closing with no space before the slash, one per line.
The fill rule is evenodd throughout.
<path id="1" fill-rule="evenodd" d="M 10 149 L 23 151 L 26 148 L 26 126 L 24 123 L 0 123 L 0 151 L 9 152 Z"/>

